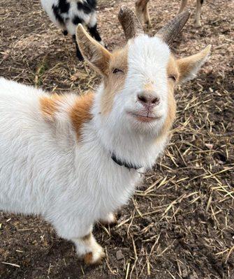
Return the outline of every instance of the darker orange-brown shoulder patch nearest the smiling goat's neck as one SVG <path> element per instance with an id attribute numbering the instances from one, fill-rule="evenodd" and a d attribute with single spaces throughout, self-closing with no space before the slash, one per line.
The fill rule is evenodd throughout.
<path id="1" fill-rule="evenodd" d="M 70 117 L 78 138 L 81 135 L 82 126 L 84 125 L 84 123 L 92 119 L 90 110 L 93 103 L 94 93 L 89 92 L 83 96 L 79 96 L 75 100 L 75 104 L 71 108 Z"/>

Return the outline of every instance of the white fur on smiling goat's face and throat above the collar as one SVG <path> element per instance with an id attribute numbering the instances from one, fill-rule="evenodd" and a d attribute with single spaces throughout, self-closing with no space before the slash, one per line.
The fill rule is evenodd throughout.
<path id="1" fill-rule="evenodd" d="M 112 111 L 108 116 L 98 114 L 103 87 L 97 92 L 94 117 L 98 137 L 105 149 L 115 151 L 118 158 L 128 163 L 151 168 L 163 151 L 167 137 L 156 136 L 167 116 L 167 75 L 166 67 L 170 56 L 168 45 L 159 38 L 139 36 L 129 42 L 129 72 L 122 92 L 115 96 Z M 137 95 L 148 82 L 154 84 L 154 94 L 161 98 L 156 115 L 161 116 L 154 123 L 138 123 L 126 114 L 129 110 L 141 110 Z M 124 137 L 123 137 L 124 135 Z"/>

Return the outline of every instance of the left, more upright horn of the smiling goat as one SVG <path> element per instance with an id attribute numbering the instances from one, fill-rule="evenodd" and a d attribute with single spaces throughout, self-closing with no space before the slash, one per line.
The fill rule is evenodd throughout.
<path id="1" fill-rule="evenodd" d="M 144 33 L 142 25 L 131 8 L 128 8 L 125 5 L 122 6 L 119 10 L 118 18 L 124 29 L 126 40 Z"/>

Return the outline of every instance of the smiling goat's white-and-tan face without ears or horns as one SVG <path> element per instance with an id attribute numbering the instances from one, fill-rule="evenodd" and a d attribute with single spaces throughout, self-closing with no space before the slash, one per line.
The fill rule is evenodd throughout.
<path id="1" fill-rule="evenodd" d="M 175 116 L 178 70 L 173 61 L 168 45 L 146 35 L 110 54 L 101 96 L 103 117 L 143 133 L 159 133 L 168 113 L 170 123 Z"/>

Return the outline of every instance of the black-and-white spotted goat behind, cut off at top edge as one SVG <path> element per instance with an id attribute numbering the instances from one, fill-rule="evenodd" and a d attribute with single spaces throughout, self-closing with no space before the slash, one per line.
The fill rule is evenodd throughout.
<path id="1" fill-rule="evenodd" d="M 75 40 L 78 24 L 87 26 L 92 37 L 104 45 L 97 30 L 96 0 L 41 0 L 41 5 L 50 20 L 63 30 L 64 35 L 69 33 L 73 37 L 76 56 L 80 61 L 83 57 Z"/>

